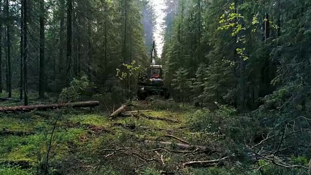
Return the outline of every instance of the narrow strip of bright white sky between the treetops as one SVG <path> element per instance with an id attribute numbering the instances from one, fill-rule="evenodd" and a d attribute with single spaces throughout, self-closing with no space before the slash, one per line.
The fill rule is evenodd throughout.
<path id="1" fill-rule="evenodd" d="M 162 9 L 164 9 L 164 0 L 150 0 L 155 8 L 155 14 L 156 14 L 156 29 L 155 29 L 155 44 L 157 49 L 157 55 L 160 57 L 162 53 L 162 47 L 163 47 L 163 41 L 162 41 L 162 29 L 161 29 L 161 23 L 164 18 L 164 13 L 162 12 Z"/>

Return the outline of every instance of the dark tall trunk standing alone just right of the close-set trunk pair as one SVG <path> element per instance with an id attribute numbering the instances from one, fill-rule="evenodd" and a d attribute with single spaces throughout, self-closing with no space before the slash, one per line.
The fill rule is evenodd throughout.
<path id="1" fill-rule="evenodd" d="M 45 91 L 45 84 L 46 84 L 46 79 L 45 79 L 45 71 L 44 71 L 44 50 L 45 50 L 45 34 L 44 34 L 44 0 L 40 0 L 40 60 L 39 60 L 39 97 L 44 98 L 44 91 Z"/>

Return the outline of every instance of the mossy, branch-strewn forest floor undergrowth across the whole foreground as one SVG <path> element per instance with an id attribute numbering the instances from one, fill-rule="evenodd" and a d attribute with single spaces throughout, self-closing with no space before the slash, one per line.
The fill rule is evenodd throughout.
<path id="1" fill-rule="evenodd" d="M 1 115 L 3 131 L 22 131 L 28 135 L 0 135 L 0 175 L 32 175 L 46 167 L 51 175 L 242 175 L 245 172 L 249 175 L 298 175 L 306 173 L 305 169 L 291 170 L 284 166 L 309 166 L 310 151 L 301 149 L 299 153 L 294 147 L 288 152 L 276 153 L 275 161 L 283 166 L 269 159 L 254 160 L 250 153 L 262 147 L 266 152 L 260 153 L 261 156 L 271 157 L 267 153 L 273 152 L 277 143 L 284 139 L 276 134 L 273 139 L 261 142 L 276 129 L 282 131 L 283 126 L 265 127 L 260 118 L 240 115 L 231 107 L 220 106 L 211 111 L 161 100 L 132 103 L 131 110 L 139 105 L 139 110 L 152 109 L 143 112 L 146 116 L 178 122 L 150 120 L 139 113 L 136 117 L 120 116 L 109 120 L 106 111 L 86 109 Z M 59 115 L 61 117 L 57 118 Z M 302 122 L 296 120 L 296 123 Z M 204 146 L 209 151 L 177 151 L 176 145 L 185 143 L 165 135 Z M 171 142 L 172 145 L 159 147 L 145 144 L 145 140 Z M 256 146 L 258 144 L 261 147 Z M 281 144 L 278 149 L 285 148 L 286 145 Z M 182 167 L 187 161 L 222 157 L 229 158 L 209 168 Z M 20 162 L 28 163 L 28 167 Z"/>

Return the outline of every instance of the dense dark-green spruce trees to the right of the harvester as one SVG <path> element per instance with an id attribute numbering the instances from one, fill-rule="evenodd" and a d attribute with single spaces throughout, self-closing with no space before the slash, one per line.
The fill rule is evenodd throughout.
<path id="1" fill-rule="evenodd" d="M 166 13 L 162 61 L 171 90 L 185 81 L 183 98 L 197 102 L 305 110 L 309 1 L 168 0 Z"/>

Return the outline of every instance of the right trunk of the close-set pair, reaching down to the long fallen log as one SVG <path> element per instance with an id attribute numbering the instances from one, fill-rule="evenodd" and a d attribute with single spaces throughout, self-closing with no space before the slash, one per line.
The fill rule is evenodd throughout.
<path id="1" fill-rule="evenodd" d="M 28 105 L 28 80 L 27 80 L 27 0 L 24 0 L 24 105 Z"/>

